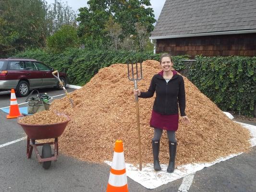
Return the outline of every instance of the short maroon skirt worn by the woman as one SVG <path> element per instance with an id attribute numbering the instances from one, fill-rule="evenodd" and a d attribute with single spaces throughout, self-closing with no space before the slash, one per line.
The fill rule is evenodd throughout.
<path id="1" fill-rule="evenodd" d="M 161 115 L 152 110 L 150 127 L 164 129 L 167 131 L 177 131 L 179 125 L 179 114 Z"/>

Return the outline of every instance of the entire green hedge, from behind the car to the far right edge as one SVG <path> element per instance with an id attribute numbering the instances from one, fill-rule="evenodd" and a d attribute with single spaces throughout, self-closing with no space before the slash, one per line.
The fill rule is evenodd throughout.
<path id="1" fill-rule="evenodd" d="M 70 84 L 84 85 L 100 68 L 127 60 L 159 60 L 152 52 L 110 51 L 72 48 L 61 54 L 42 49 L 27 50 L 19 57 L 40 60 L 56 70 L 66 72 Z M 187 56 L 174 56 L 175 69 L 185 68 L 180 60 Z M 197 56 L 188 78 L 221 110 L 253 116 L 256 101 L 256 57 L 203 57 Z"/>

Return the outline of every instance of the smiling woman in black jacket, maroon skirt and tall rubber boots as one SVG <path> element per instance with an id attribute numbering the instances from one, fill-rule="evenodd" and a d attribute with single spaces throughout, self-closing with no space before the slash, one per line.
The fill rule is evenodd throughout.
<path id="1" fill-rule="evenodd" d="M 150 127 L 154 128 L 154 137 L 152 139 L 152 149 L 154 157 L 154 169 L 161 170 L 158 154 L 160 138 L 163 130 L 167 131 L 169 139 L 169 165 L 167 172 L 172 173 L 175 167 L 175 156 L 177 141 L 175 131 L 178 130 L 179 111 L 183 122 L 189 123 L 185 114 L 185 88 L 183 77 L 172 68 L 173 62 L 171 55 L 164 53 L 160 57 L 160 66 L 162 71 L 155 74 L 151 80 L 147 92 L 141 92 L 139 89 L 134 90 L 134 95 L 141 98 L 149 98 L 156 92 L 156 98 L 153 105 L 150 119 Z"/>

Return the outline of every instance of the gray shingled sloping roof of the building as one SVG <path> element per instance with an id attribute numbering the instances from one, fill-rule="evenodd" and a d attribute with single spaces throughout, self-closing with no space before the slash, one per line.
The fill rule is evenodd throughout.
<path id="1" fill-rule="evenodd" d="M 166 0 L 150 38 L 255 29 L 256 0 Z"/>

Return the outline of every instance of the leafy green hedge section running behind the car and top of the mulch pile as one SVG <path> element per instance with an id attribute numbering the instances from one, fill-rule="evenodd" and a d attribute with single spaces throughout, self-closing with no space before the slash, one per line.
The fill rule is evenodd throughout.
<path id="1" fill-rule="evenodd" d="M 154 55 L 152 52 L 133 52 L 122 50 L 92 50 L 86 51 L 71 48 L 61 54 L 49 53 L 42 49 L 27 50 L 19 53 L 16 57 L 29 57 L 42 61 L 53 67 L 55 70 L 66 72 L 70 84 L 84 85 L 103 67 L 108 67 L 114 63 L 126 63 L 128 60 L 159 60 L 160 54 Z M 176 70 L 184 68 L 181 59 L 187 56 L 173 57 Z"/>

